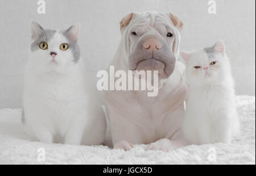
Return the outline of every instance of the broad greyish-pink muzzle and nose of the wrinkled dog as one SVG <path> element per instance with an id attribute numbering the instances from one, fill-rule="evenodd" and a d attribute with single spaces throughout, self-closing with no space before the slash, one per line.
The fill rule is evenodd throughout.
<path id="1" fill-rule="evenodd" d="M 174 72 L 176 58 L 166 41 L 158 36 L 141 39 L 129 56 L 130 70 L 158 70 L 159 78 L 166 79 Z"/>

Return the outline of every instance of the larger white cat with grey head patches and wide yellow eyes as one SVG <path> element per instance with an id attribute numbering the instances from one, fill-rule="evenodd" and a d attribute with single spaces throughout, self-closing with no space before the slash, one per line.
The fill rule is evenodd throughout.
<path id="1" fill-rule="evenodd" d="M 86 78 L 77 44 L 79 24 L 45 30 L 32 22 L 24 73 L 24 117 L 28 135 L 44 143 L 98 145 L 105 115 Z"/>

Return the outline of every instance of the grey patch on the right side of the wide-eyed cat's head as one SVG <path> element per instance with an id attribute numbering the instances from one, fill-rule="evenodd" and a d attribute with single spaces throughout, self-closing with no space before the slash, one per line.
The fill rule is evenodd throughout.
<path id="1" fill-rule="evenodd" d="M 61 33 L 68 39 L 68 49 L 72 50 L 72 54 L 74 57 L 73 62 L 78 62 L 80 58 L 80 48 L 77 41 L 73 41 L 71 37 L 68 35 L 68 30 L 61 31 Z"/>

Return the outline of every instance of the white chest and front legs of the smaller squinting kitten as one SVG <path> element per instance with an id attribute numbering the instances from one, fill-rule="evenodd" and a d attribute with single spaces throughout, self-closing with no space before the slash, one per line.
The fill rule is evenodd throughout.
<path id="1" fill-rule="evenodd" d="M 187 99 L 184 133 L 196 144 L 216 142 L 218 121 L 226 113 L 229 94 L 221 86 L 192 89 Z"/>

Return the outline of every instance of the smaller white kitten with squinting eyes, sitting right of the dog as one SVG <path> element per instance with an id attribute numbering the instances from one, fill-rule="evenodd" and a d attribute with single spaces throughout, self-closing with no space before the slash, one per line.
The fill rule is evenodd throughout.
<path id="1" fill-rule="evenodd" d="M 230 143 L 240 133 L 233 78 L 224 43 L 197 52 L 181 52 L 189 93 L 183 125 L 191 144 Z"/>

